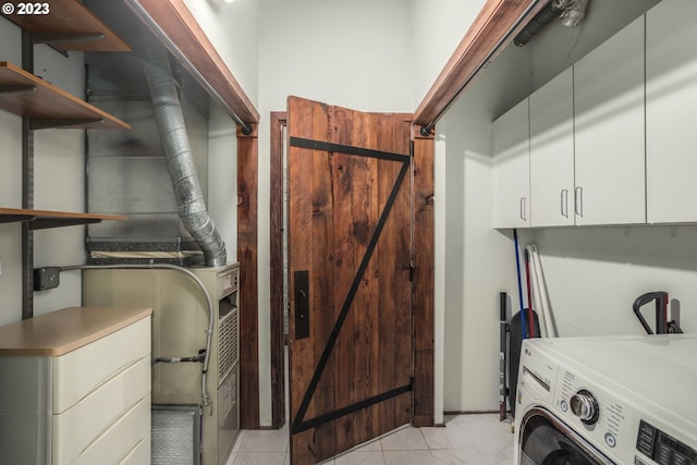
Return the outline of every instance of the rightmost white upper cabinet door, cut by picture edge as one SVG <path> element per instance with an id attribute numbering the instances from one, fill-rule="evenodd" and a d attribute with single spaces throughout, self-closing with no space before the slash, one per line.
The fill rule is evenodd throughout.
<path id="1" fill-rule="evenodd" d="M 647 221 L 697 220 L 697 1 L 646 14 Z"/>

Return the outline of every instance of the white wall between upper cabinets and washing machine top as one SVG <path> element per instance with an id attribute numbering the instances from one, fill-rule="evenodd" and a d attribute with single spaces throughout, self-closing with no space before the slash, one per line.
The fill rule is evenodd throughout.
<path id="1" fill-rule="evenodd" d="M 697 332 L 697 227 L 549 229 L 529 238 L 540 249 L 560 335 L 643 334 L 634 299 L 665 291 L 682 327 Z M 655 327 L 653 305 L 643 314 Z"/>

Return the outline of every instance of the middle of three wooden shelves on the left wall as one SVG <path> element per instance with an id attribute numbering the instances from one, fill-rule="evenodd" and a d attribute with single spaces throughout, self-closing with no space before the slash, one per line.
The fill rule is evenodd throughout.
<path id="1" fill-rule="evenodd" d="M 33 130 L 131 129 L 118 118 L 7 61 L 0 61 L 0 109 L 30 118 Z"/>

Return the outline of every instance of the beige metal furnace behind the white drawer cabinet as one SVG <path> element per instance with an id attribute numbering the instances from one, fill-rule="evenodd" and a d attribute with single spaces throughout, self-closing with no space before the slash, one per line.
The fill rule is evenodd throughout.
<path id="1" fill-rule="evenodd" d="M 239 418 L 239 264 L 219 268 L 187 268 L 204 284 L 213 304 L 213 332 L 206 390 L 210 405 L 204 406 L 200 425 L 180 431 L 181 441 L 160 446 L 160 431 L 152 430 L 152 463 L 224 464 L 240 432 Z M 184 272 L 173 269 L 93 269 L 83 272 L 86 305 L 137 305 L 152 308 L 152 358 L 182 358 L 206 347 L 209 309 L 203 290 Z M 157 363 L 152 366 L 152 404 L 157 415 L 201 405 L 200 363 Z M 156 412 L 154 411 L 154 420 Z M 197 428 L 200 433 L 196 433 Z M 191 432 L 191 433 L 189 433 Z M 162 435 L 163 441 L 174 436 Z M 176 457 L 172 446 L 182 446 Z M 160 454 L 160 450 L 162 453 Z"/>

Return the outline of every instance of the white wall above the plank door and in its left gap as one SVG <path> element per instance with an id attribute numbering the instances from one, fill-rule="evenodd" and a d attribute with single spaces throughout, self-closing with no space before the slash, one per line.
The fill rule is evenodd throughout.
<path id="1" fill-rule="evenodd" d="M 259 185 L 268 185 L 269 112 L 289 95 L 360 111 L 413 112 L 444 66 L 484 0 L 262 0 L 259 19 Z M 259 192 L 259 218 L 269 218 Z M 259 224 L 259 295 L 268 295 L 268 224 Z M 442 246 L 441 246 L 442 247 Z M 268 328 L 268 301 L 259 327 Z M 442 315 L 442 309 L 438 310 Z M 260 377 L 269 342 L 260 334 Z M 442 340 L 442 333 L 437 333 Z M 438 363 L 437 363 L 438 365 Z M 261 424 L 270 424 L 270 382 L 260 379 Z"/>

